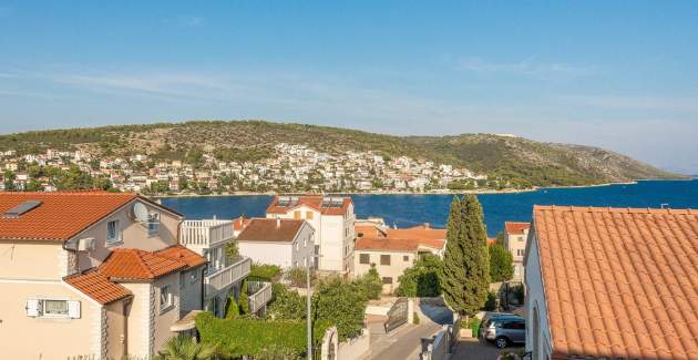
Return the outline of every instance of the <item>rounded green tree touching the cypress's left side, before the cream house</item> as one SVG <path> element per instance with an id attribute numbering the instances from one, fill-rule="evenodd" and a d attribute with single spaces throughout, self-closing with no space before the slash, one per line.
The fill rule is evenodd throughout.
<path id="1" fill-rule="evenodd" d="M 443 261 L 435 255 L 425 255 L 419 259 L 398 279 L 400 286 L 396 289 L 398 296 L 434 297 L 441 295 L 441 274 Z"/>

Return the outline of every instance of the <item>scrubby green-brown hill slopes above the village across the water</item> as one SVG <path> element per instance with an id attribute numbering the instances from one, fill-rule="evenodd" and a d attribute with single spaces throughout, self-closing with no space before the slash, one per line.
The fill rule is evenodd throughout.
<path id="1" fill-rule="evenodd" d="M 0 135 L 0 151 L 20 154 L 80 148 L 99 156 L 144 153 L 154 160 L 185 162 L 202 152 L 224 161 L 256 161 L 271 156 L 278 143 L 306 144 L 330 154 L 373 151 L 390 157 L 406 155 L 466 167 L 517 187 L 680 177 L 598 147 L 489 134 L 403 137 L 316 125 L 215 121 Z"/>

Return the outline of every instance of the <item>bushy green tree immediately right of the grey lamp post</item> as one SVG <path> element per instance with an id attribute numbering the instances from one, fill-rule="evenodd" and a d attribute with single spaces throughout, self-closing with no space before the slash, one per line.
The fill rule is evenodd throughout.
<path id="1" fill-rule="evenodd" d="M 367 302 L 357 281 L 326 278 L 318 282 L 312 294 L 314 321 L 333 323 L 339 340 L 343 341 L 361 332 Z"/>

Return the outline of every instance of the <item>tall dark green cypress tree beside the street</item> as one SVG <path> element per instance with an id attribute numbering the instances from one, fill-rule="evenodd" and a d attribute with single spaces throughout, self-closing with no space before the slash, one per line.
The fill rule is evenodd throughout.
<path id="1" fill-rule="evenodd" d="M 443 295 L 453 310 L 472 316 L 483 307 L 490 286 L 487 236 L 474 195 L 453 198 L 446 230 Z"/>

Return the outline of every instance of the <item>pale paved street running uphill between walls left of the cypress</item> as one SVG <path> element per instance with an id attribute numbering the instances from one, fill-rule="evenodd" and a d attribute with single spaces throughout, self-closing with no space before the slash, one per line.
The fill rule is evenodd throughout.
<path id="1" fill-rule="evenodd" d="M 429 338 L 441 329 L 440 323 L 450 320 L 445 308 L 422 308 L 425 316 L 420 316 L 420 325 L 403 325 L 390 335 L 371 335 L 369 359 L 406 360 L 418 359 L 421 339 Z"/>

